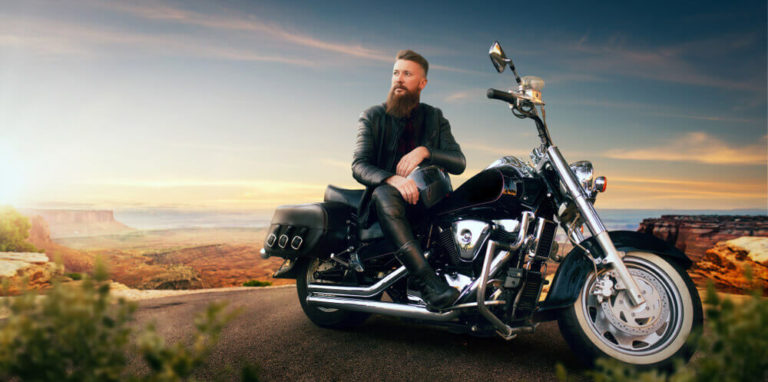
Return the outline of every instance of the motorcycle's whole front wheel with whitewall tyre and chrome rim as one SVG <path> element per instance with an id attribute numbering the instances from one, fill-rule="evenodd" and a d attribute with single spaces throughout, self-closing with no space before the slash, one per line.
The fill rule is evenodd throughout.
<path id="1" fill-rule="evenodd" d="M 687 361 L 695 350 L 687 339 L 702 325 L 701 299 L 679 265 L 648 252 L 624 257 L 646 304 L 634 307 L 624 290 L 597 293 L 616 284 L 609 271 L 591 273 L 576 302 L 558 320 L 563 337 L 587 364 L 610 357 L 644 368 L 669 368 L 675 358 Z"/>

